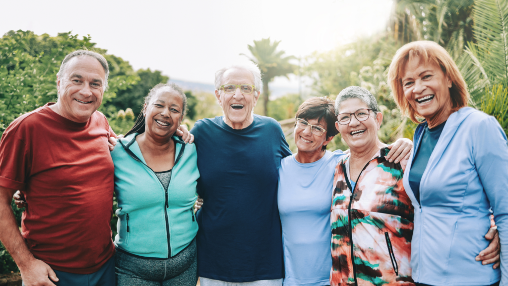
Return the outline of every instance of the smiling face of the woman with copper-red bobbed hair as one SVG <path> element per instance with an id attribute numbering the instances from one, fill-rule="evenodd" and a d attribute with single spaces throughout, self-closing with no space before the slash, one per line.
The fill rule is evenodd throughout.
<path id="1" fill-rule="evenodd" d="M 452 113 L 452 81 L 441 68 L 420 59 L 408 62 L 402 76 L 404 97 L 429 125 L 438 125 Z"/>

